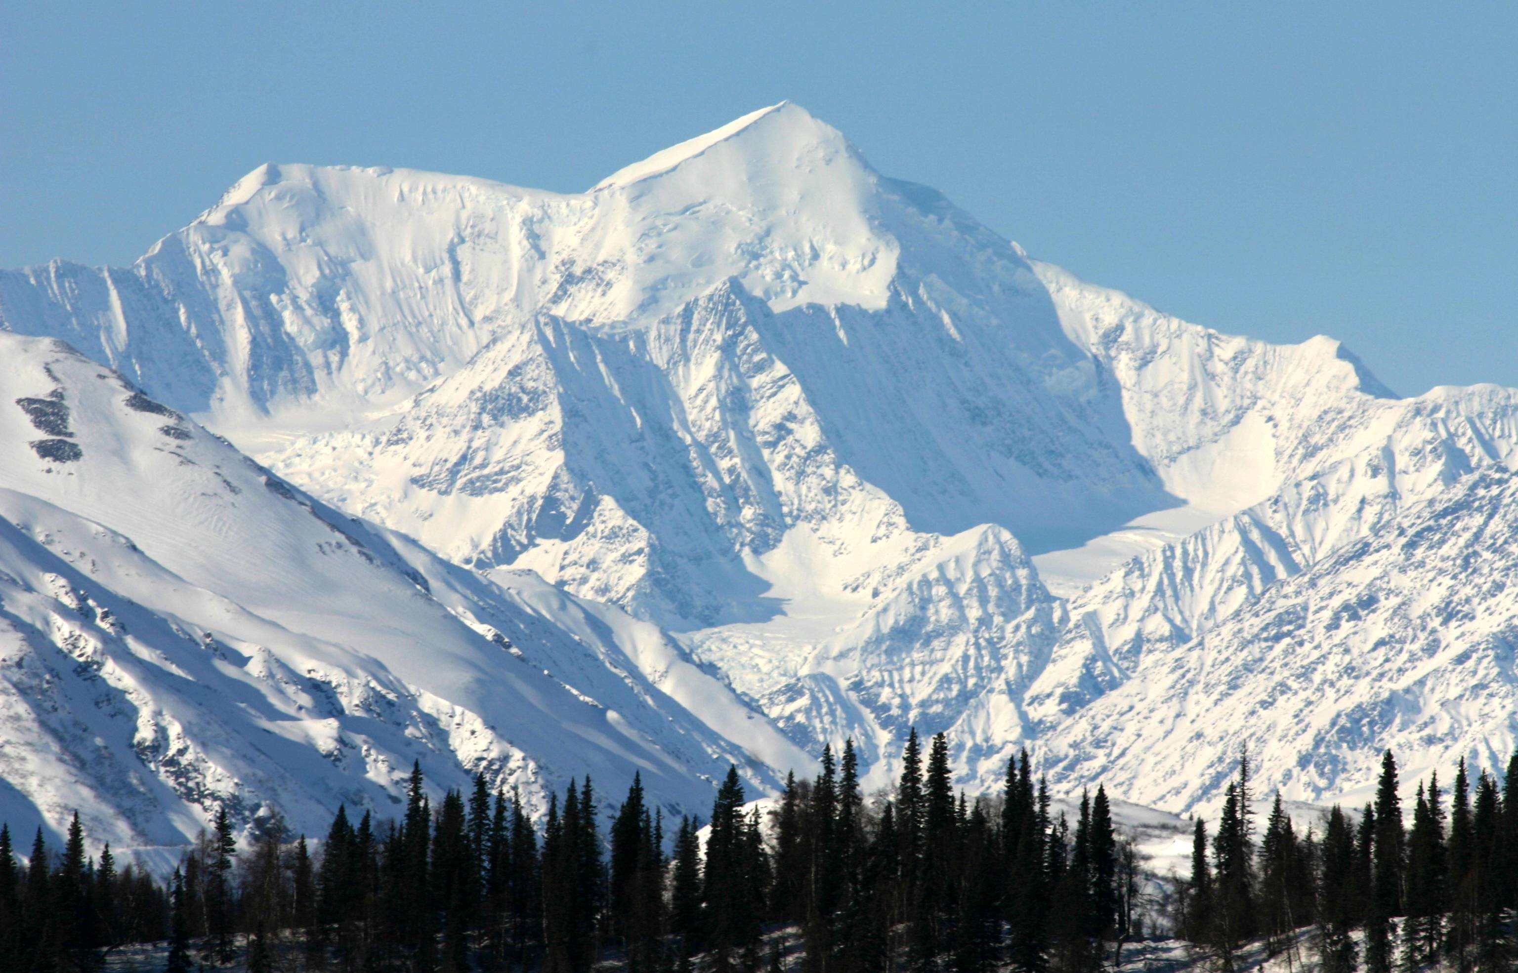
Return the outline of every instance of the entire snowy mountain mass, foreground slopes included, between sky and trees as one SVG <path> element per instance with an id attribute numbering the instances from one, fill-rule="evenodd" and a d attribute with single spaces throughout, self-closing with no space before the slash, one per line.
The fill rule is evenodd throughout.
<path id="1" fill-rule="evenodd" d="M 1085 284 L 791 103 L 584 193 L 261 165 L 0 272 L 0 812 L 679 818 L 912 726 L 1175 814 L 1498 770 L 1515 466 L 1518 392 Z"/>

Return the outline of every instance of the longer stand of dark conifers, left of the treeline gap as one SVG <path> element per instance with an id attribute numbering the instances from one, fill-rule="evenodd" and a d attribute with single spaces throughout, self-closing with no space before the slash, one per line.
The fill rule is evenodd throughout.
<path id="1" fill-rule="evenodd" d="M 1026 753 L 999 800 L 955 794 L 949 742 L 906 744 L 894 798 L 867 801 L 853 742 L 792 776 L 768 815 L 744 812 L 736 768 L 707 821 L 666 826 L 635 777 L 603 829 L 589 779 L 551 795 L 542 830 L 519 797 L 477 777 L 433 806 L 413 768 L 405 815 L 355 824 L 346 808 L 313 853 L 278 823 L 238 849 L 225 811 L 158 888 L 83 853 L 77 820 L 59 858 L 43 844 L 23 873 L 0 832 L 0 968 L 88 968 L 114 946 L 168 940 L 170 973 L 299 955 L 329 970 L 581 973 L 753 971 L 794 965 L 762 930 L 797 926 L 808 970 L 985 970 L 1003 953 L 1031 970 L 1096 968 L 1102 938 L 1132 921 L 1137 868 L 1107 794 L 1078 821 L 1050 818 Z M 701 830 L 704 829 L 704 841 Z M 1126 861 L 1126 871 L 1123 862 Z M 1008 930 L 1014 930 L 1008 935 Z"/>

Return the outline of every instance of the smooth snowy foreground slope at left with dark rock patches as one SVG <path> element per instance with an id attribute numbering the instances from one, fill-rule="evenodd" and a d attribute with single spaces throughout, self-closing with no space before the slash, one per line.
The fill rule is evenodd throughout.
<path id="1" fill-rule="evenodd" d="M 77 808 L 118 845 L 165 844 L 226 803 L 316 829 L 342 801 L 389 814 L 414 759 L 534 801 L 642 770 L 689 811 L 729 760 L 762 786 L 806 767 L 651 625 L 340 518 L 65 345 L 0 334 L 0 361 L 14 824 Z"/>

